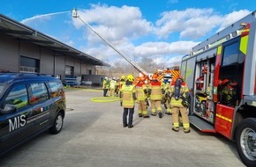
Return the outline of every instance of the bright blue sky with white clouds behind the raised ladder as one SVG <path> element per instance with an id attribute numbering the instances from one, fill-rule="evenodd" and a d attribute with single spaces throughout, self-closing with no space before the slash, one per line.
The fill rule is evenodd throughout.
<path id="1" fill-rule="evenodd" d="M 79 18 L 139 62 L 165 67 L 255 11 L 254 0 L 0 0 L 0 13 L 110 64 L 126 63 Z M 79 18 L 72 18 L 76 8 Z"/>

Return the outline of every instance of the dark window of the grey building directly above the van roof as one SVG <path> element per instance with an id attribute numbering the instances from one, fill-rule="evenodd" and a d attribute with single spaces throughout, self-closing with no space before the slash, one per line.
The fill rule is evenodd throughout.
<path id="1" fill-rule="evenodd" d="M 40 73 L 40 60 L 21 55 L 19 72 Z"/>

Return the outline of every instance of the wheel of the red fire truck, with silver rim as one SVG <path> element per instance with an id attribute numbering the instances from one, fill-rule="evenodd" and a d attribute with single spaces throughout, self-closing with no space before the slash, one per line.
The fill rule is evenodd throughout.
<path id="1" fill-rule="evenodd" d="M 236 133 L 237 152 L 246 166 L 256 166 L 256 119 L 242 120 Z"/>

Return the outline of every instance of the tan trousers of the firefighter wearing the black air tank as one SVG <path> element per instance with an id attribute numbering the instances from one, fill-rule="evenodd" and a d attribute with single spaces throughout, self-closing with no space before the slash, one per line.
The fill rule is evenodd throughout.
<path id="1" fill-rule="evenodd" d="M 178 130 L 179 128 L 179 113 L 181 113 L 182 117 L 182 124 L 184 127 L 184 130 L 189 130 L 190 125 L 189 125 L 189 119 L 187 115 L 187 108 L 184 106 L 172 106 L 171 107 L 171 112 L 172 112 L 172 122 L 173 122 L 173 127 Z"/>

